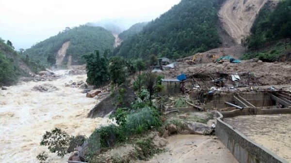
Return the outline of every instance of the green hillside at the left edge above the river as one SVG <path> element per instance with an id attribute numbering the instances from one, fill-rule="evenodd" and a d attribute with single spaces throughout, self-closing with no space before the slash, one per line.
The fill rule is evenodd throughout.
<path id="1" fill-rule="evenodd" d="M 0 38 L 0 86 L 15 84 L 18 77 L 33 74 L 28 64 L 34 65 L 25 62 L 25 58 L 14 50 L 11 41 L 5 43 Z"/>

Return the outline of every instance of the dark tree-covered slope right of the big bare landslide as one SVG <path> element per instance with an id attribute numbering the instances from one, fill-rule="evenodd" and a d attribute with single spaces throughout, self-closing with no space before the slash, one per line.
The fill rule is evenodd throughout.
<path id="1" fill-rule="evenodd" d="M 291 0 L 280 1 L 272 11 L 267 2 L 251 28 L 251 35 L 244 38 L 242 43 L 250 49 L 258 50 L 262 44 L 278 39 L 291 39 Z"/>

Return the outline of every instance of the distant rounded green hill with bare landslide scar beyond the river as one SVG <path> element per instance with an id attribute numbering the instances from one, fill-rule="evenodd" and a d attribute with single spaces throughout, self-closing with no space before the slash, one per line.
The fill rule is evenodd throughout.
<path id="1" fill-rule="evenodd" d="M 110 31 L 101 27 L 82 25 L 72 29 L 66 28 L 56 36 L 33 45 L 24 54 L 38 59 L 40 62 L 51 61 L 53 60 L 51 58 L 56 57 L 62 45 L 68 41 L 70 44 L 66 49 L 65 59 L 71 55 L 73 63 L 78 63 L 78 59 L 80 61 L 82 55 L 96 49 L 102 54 L 106 49 L 113 50 L 114 37 Z"/>

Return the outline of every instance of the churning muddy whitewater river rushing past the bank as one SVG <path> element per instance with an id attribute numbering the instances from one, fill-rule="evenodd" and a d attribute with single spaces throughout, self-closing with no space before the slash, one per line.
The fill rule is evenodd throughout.
<path id="1" fill-rule="evenodd" d="M 109 119 L 88 119 L 90 109 L 98 103 L 86 98 L 81 89 L 65 87 L 70 80 L 85 81 L 86 74 L 67 75 L 67 70 L 56 71 L 64 77 L 55 81 L 22 82 L 0 90 L 0 162 L 39 163 L 36 156 L 42 151 L 49 154 L 46 146 L 40 146 L 46 131 L 60 128 L 70 135 L 87 137 Z M 52 92 L 33 91 L 34 86 L 50 84 L 59 90 Z M 64 158 L 49 154 L 49 163 L 65 163 Z"/>

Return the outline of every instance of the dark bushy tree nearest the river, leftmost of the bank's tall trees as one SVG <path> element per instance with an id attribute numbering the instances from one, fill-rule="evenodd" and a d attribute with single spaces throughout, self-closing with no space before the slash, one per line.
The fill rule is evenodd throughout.
<path id="1" fill-rule="evenodd" d="M 100 57 L 99 51 L 82 56 L 86 60 L 87 83 L 100 88 L 108 81 L 108 59 Z"/>

